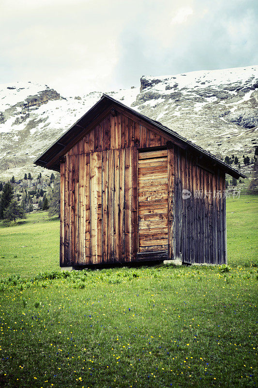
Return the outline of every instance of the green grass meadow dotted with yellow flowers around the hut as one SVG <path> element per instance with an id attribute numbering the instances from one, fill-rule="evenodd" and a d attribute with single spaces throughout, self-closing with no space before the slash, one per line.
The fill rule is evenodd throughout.
<path id="1" fill-rule="evenodd" d="M 1 225 L 0 387 L 256 387 L 257 214 L 227 200 L 222 267 L 63 272 L 57 218 Z"/>

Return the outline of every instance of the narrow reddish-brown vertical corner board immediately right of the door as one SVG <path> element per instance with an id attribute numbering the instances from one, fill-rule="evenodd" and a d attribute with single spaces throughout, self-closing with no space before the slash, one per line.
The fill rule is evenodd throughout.
<path id="1" fill-rule="evenodd" d="M 167 195 L 167 239 L 168 251 L 167 258 L 171 260 L 174 258 L 173 247 L 173 231 L 174 231 L 174 148 L 170 146 L 167 148 L 167 178 L 168 178 L 168 195 Z"/>

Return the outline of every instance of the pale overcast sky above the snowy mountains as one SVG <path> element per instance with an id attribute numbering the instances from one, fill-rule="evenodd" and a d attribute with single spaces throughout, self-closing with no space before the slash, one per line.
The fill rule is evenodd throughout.
<path id="1" fill-rule="evenodd" d="M 0 83 L 61 94 L 258 64 L 258 0 L 0 0 Z"/>

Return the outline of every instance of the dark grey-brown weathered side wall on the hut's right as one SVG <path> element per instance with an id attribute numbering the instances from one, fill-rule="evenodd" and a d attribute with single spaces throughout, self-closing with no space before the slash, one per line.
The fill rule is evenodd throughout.
<path id="1" fill-rule="evenodd" d="M 201 168 L 174 146 L 174 258 L 185 263 L 227 262 L 225 174 Z M 188 198 L 183 199 L 182 194 Z"/>

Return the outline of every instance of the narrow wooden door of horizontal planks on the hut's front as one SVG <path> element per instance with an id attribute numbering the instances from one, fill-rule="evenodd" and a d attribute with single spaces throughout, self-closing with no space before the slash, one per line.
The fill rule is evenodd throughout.
<path id="1" fill-rule="evenodd" d="M 167 149 L 138 153 L 138 253 L 167 251 Z"/>

